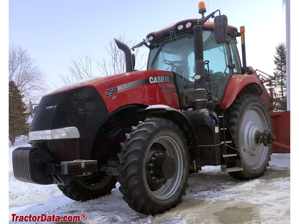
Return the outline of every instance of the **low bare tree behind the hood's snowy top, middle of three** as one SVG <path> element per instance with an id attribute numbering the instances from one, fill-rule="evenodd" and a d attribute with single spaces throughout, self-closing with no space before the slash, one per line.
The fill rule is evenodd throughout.
<path id="1" fill-rule="evenodd" d="M 83 58 L 81 56 L 78 56 L 76 59 L 71 58 L 71 60 L 72 61 L 68 69 L 69 74 L 59 74 L 59 76 L 65 84 L 72 83 L 77 79 L 84 79 L 93 76 L 92 55 L 86 54 L 83 55 Z"/>

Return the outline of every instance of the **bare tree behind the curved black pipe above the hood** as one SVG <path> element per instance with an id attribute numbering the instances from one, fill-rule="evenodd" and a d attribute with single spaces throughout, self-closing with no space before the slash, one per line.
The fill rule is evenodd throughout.
<path id="1" fill-rule="evenodd" d="M 133 38 L 125 38 L 125 35 L 119 35 L 116 37 L 117 40 L 125 43 L 129 47 L 135 45 L 136 41 Z M 125 61 L 125 54 L 122 50 L 120 50 L 115 41 L 110 39 L 107 41 L 107 44 L 104 46 L 107 50 L 107 58 L 103 57 L 102 61 L 97 61 L 97 68 L 100 70 L 101 75 L 109 76 L 114 74 L 120 74 L 126 72 L 126 61 Z M 141 70 L 145 67 L 145 54 L 138 54 L 139 49 L 135 49 L 135 69 Z"/>

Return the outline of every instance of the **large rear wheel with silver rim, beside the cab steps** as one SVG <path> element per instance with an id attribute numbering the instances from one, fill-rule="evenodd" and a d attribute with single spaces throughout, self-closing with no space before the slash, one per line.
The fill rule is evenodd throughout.
<path id="1" fill-rule="evenodd" d="M 271 160 L 272 145 L 266 147 L 261 141 L 256 150 L 254 134 L 264 129 L 273 129 L 263 100 L 255 94 L 239 96 L 230 107 L 227 123 L 243 160 L 243 170 L 229 172 L 230 176 L 237 180 L 250 180 L 263 175 Z"/>

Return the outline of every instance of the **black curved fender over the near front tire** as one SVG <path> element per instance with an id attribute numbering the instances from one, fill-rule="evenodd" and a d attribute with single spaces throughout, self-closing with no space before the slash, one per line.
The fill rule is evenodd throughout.
<path id="1" fill-rule="evenodd" d="M 184 137 L 187 138 L 191 160 L 198 160 L 199 152 L 196 133 L 190 121 L 181 111 L 171 107 L 151 108 L 142 111 L 142 120 L 149 116 L 169 119 L 173 123 L 178 124 L 179 128 L 184 132 Z"/>

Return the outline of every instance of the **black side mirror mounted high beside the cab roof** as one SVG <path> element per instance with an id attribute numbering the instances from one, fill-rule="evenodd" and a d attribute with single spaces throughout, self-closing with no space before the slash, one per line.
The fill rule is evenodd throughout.
<path id="1" fill-rule="evenodd" d="M 225 43 L 227 39 L 227 16 L 219 15 L 214 17 L 214 34 L 217 44 Z"/>

